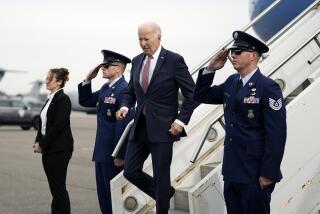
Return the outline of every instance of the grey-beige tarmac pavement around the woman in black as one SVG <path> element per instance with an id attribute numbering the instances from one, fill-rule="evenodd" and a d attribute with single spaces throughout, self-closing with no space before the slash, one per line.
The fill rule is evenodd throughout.
<path id="1" fill-rule="evenodd" d="M 72 113 L 71 127 L 75 147 L 67 175 L 71 213 L 100 213 L 91 161 L 96 115 Z M 35 130 L 0 126 L 0 214 L 50 214 L 52 198 L 41 155 L 32 150 L 35 136 Z"/>

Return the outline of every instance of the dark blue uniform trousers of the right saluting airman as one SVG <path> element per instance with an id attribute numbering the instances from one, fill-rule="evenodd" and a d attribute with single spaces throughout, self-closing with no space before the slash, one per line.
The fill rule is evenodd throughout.
<path id="1" fill-rule="evenodd" d="M 228 214 L 269 214 L 275 184 L 264 189 L 259 183 L 243 184 L 224 181 L 224 198 Z"/>

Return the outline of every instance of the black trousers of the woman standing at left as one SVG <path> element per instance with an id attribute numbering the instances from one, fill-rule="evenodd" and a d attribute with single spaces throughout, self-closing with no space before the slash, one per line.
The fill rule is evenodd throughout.
<path id="1" fill-rule="evenodd" d="M 51 213 L 70 214 L 70 199 L 66 189 L 66 177 L 72 152 L 42 155 L 42 164 L 52 195 Z"/>

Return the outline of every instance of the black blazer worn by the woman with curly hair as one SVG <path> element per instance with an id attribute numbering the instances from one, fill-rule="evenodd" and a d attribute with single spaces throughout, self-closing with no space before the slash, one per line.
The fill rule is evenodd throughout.
<path id="1" fill-rule="evenodd" d="M 44 154 L 73 151 L 70 114 L 70 98 L 63 92 L 63 90 L 60 90 L 54 95 L 48 108 L 46 134 L 44 136 L 41 134 L 42 124 L 40 120 L 40 126 L 35 141 L 39 142 Z"/>

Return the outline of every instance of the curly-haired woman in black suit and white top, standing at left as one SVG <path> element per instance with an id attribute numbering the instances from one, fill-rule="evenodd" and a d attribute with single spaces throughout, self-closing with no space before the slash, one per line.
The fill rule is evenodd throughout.
<path id="1" fill-rule="evenodd" d="M 41 121 L 33 145 L 42 153 L 42 164 L 52 194 L 51 213 L 70 214 L 70 199 L 66 189 L 69 160 L 73 151 L 70 128 L 71 101 L 63 92 L 69 72 L 65 68 L 50 69 L 46 86 L 50 95 L 41 110 Z"/>

